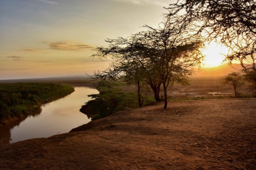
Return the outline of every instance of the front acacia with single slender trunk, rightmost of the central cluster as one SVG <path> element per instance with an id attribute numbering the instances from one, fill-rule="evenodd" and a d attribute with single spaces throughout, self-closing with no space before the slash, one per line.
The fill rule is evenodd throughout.
<path id="1" fill-rule="evenodd" d="M 163 84 L 164 109 L 167 108 L 167 88 L 174 82 L 186 84 L 188 76 L 194 73 L 203 57 L 200 37 L 193 34 L 194 25 L 190 18 L 167 15 L 158 28 L 144 26 L 147 31 L 136 34 L 136 39 L 154 51 L 147 60 L 154 63 L 154 69 Z"/>

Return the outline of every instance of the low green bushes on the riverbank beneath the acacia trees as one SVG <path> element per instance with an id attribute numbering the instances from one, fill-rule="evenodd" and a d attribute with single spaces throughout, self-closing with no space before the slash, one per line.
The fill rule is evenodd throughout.
<path id="1" fill-rule="evenodd" d="M 133 92 L 124 93 L 116 92 L 114 90 L 101 91 L 99 94 L 88 95 L 94 100 L 88 101 L 92 110 L 94 110 L 100 118 L 107 117 L 115 112 L 125 110 L 127 108 L 134 108 L 137 106 L 136 94 Z M 152 97 L 145 97 L 145 104 L 153 102 Z"/>

